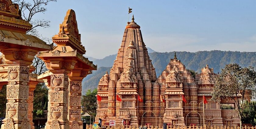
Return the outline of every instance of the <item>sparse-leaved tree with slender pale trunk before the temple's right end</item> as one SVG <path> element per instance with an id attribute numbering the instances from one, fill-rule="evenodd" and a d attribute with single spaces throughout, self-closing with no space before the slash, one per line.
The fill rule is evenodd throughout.
<path id="1" fill-rule="evenodd" d="M 243 105 L 245 99 L 251 99 L 256 90 L 256 72 L 249 66 L 242 68 L 236 63 L 227 64 L 221 73 L 216 77 L 215 86 L 212 92 L 212 100 L 232 99 L 235 102 L 236 110 L 242 127 Z"/>

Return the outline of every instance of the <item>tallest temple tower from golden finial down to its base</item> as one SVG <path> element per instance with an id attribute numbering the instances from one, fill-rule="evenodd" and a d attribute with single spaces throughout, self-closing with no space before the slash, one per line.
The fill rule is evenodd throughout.
<path id="1" fill-rule="evenodd" d="M 125 119 L 131 125 L 138 125 L 144 113 L 138 111 L 138 104 L 139 110 L 153 110 L 151 105 L 147 104 L 152 104 L 155 81 L 155 68 L 148 56 L 140 26 L 132 17 L 132 22 L 126 25 L 123 40 L 110 73 L 106 73 L 98 84 L 101 102 L 98 101 L 96 120 L 101 118 L 102 124 L 106 125 L 109 120 L 118 120 L 116 124 L 122 125 L 121 121 Z M 138 94 L 143 102 L 137 101 Z M 116 95 L 122 99 L 122 102 L 116 100 Z M 144 118 L 152 115 L 149 112 L 144 115 Z"/>

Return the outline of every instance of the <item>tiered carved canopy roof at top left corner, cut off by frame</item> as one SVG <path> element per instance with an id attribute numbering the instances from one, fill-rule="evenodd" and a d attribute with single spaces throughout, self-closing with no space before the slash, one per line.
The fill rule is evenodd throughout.
<path id="1" fill-rule="evenodd" d="M 27 35 L 32 25 L 21 18 L 19 5 L 11 0 L 0 0 L 0 49 L 30 48 L 38 51 L 50 49 L 50 45 L 37 38 Z"/>

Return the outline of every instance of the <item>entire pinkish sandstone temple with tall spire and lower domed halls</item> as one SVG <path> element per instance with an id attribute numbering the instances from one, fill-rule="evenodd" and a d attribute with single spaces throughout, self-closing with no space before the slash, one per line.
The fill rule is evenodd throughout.
<path id="1" fill-rule="evenodd" d="M 101 118 L 105 126 L 109 126 L 111 120 L 117 125 L 135 126 L 158 126 L 163 122 L 187 126 L 199 126 L 203 122 L 208 126 L 237 126 L 238 113 L 221 109 L 223 104 L 235 108 L 233 101 L 210 101 L 216 76 L 218 74 L 206 65 L 200 74 L 192 77 L 175 53 L 157 78 L 140 26 L 133 17 L 126 25 L 110 73 L 99 81 L 101 101 L 98 101 L 96 120 Z M 203 96 L 208 104 L 203 103 Z"/>

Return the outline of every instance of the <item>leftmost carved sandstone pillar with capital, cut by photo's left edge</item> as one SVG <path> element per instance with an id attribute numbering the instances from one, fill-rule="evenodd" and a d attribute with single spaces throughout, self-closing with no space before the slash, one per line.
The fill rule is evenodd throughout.
<path id="1" fill-rule="evenodd" d="M 5 63 L 9 64 L 6 87 L 6 118 L 2 128 L 30 129 L 28 119 L 29 99 L 29 67 L 36 50 L 9 48 L 1 50 L 5 55 Z"/>

